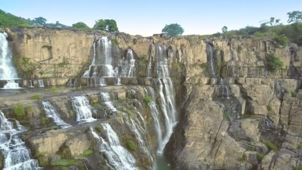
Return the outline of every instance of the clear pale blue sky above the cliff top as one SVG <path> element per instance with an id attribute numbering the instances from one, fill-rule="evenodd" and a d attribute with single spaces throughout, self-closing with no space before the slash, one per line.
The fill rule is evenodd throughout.
<path id="1" fill-rule="evenodd" d="M 149 36 L 170 23 L 180 24 L 184 34 L 259 26 L 271 16 L 286 23 L 286 13 L 302 10 L 302 0 L 0 0 L 0 8 L 66 25 L 82 21 L 92 27 L 97 19 L 115 19 L 121 32 Z"/>

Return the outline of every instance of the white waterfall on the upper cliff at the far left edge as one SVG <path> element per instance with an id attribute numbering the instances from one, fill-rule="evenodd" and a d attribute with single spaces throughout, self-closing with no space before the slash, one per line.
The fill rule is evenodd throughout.
<path id="1" fill-rule="evenodd" d="M 13 80 L 18 79 L 16 69 L 12 64 L 11 50 L 6 40 L 7 34 L 0 33 L 0 80 L 6 80 L 3 88 L 20 88 Z"/>

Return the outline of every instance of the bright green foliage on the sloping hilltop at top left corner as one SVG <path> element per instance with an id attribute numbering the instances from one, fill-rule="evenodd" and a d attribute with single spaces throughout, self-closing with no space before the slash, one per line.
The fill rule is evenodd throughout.
<path id="1" fill-rule="evenodd" d="M 26 19 L 6 13 L 0 9 L 0 27 L 30 26 Z"/>

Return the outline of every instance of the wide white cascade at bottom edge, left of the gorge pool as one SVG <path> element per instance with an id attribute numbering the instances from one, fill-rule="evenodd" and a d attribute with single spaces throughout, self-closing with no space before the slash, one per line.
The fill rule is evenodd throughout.
<path id="1" fill-rule="evenodd" d="M 108 161 L 108 166 L 116 170 L 138 170 L 135 158 L 121 146 L 117 134 L 108 123 L 102 124 L 108 142 L 98 136 L 92 128 L 93 137 L 100 143 L 99 150 Z"/>

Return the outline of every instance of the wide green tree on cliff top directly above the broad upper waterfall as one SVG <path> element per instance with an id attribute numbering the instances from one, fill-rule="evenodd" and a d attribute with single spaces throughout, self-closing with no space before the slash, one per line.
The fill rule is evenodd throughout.
<path id="1" fill-rule="evenodd" d="M 118 32 L 119 31 L 119 28 L 117 27 L 116 21 L 114 19 L 99 19 L 99 20 L 95 21 L 93 29 L 108 31 L 108 32 Z"/>

